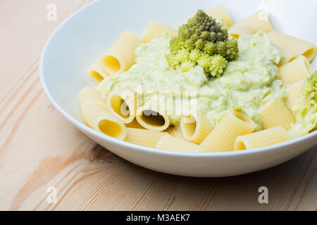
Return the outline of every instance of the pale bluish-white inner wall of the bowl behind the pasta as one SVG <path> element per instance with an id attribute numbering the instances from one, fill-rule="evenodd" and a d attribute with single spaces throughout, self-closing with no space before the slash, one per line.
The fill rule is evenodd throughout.
<path id="1" fill-rule="evenodd" d="M 77 94 L 83 87 L 93 85 L 87 77 L 87 68 L 121 32 L 130 30 L 141 35 L 149 20 L 176 28 L 199 8 L 209 10 L 225 4 L 234 22 L 265 9 L 275 30 L 316 44 L 316 13 L 308 12 L 317 4 L 308 0 L 303 4 L 303 1 L 268 0 L 264 4 L 260 0 L 94 1 L 68 18 L 52 34 L 42 55 L 42 82 L 54 101 L 81 121 Z M 316 64 L 314 60 L 314 69 Z"/>

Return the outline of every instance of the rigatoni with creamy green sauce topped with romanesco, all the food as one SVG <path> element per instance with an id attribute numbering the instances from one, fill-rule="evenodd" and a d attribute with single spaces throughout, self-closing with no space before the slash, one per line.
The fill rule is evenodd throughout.
<path id="1" fill-rule="evenodd" d="M 232 23 L 225 6 L 175 30 L 123 32 L 88 69 L 82 120 L 116 139 L 189 153 L 250 150 L 317 128 L 315 44 L 273 29 L 265 11 Z"/>

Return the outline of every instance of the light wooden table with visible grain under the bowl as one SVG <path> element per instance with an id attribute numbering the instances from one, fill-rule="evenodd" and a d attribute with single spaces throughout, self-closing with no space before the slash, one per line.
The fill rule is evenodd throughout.
<path id="1" fill-rule="evenodd" d="M 244 176 L 172 176 L 118 158 L 56 112 L 39 83 L 39 56 L 49 34 L 90 1 L 0 1 L 0 210 L 317 209 L 316 148 Z M 46 19 L 51 3 L 56 21 Z M 47 201 L 50 186 L 56 204 Z M 258 202 L 261 186 L 268 204 Z"/>

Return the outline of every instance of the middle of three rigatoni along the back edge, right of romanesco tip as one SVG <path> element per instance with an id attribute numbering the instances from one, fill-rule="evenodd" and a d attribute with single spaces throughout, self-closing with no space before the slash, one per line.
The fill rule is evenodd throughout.
<path id="1" fill-rule="evenodd" d="M 249 27 L 254 30 L 254 32 L 259 32 L 260 30 L 263 30 L 264 32 L 271 32 L 273 30 L 271 22 L 268 19 L 268 15 L 264 10 L 250 15 L 248 18 L 240 20 L 239 22 L 235 23 L 234 26 Z"/>

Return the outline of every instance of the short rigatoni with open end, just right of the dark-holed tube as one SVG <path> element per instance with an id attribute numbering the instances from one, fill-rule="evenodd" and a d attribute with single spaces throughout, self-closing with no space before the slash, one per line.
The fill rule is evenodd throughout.
<path id="1" fill-rule="evenodd" d="M 185 140 L 200 144 L 213 130 L 213 126 L 203 115 L 189 115 L 182 117 L 180 130 Z"/>

